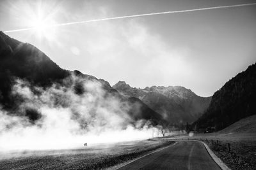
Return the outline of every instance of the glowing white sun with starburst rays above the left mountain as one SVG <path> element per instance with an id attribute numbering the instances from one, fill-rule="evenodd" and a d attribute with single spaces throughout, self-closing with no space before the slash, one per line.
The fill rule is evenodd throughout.
<path id="1" fill-rule="evenodd" d="M 38 43 L 38 45 L 45 43 L 45 45 L 52 46 L 60 43 L 58 39 L 63 31 L 56 27 L 58 20 L 62 18 L 60 13 L 63 12 L 63 6 L 61 4 L 44 0 L 12 1 L 6 9 L 8 8 L 12 13 L 11 17 L 17 28 L 23 30 L 20 33 L 22 36 L 32 38 L 33 43 Z"/>

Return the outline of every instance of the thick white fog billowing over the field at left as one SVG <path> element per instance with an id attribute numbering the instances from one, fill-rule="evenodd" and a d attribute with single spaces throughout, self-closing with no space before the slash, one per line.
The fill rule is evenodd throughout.
<path id="1" fill-rule="evenodd" d="M 72 74 L 43 89 L 17 79 L 12 96 L 17 108 L 0 110 L 2 151 L 76 148 L 159 135 L 150 122 L 132 120 L 127 114 L 131 106 L 109 95 L 99 80 Z"/>

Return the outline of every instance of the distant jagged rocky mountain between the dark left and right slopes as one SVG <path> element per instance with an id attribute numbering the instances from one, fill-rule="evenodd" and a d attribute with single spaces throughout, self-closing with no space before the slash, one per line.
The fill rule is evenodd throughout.
<path id="1" fill-rule="evenodd" d="M 171 124 L 194 122 L 204 113 L 211 101 L 211 97 L 197 96 L 191 90 L 180 86 L 137 89 L 125 81 L 118 81 L 113 88 L 123 96 L 141 99 Z"/>

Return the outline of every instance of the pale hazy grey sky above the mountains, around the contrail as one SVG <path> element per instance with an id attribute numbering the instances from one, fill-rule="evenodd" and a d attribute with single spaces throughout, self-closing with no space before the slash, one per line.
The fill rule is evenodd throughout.
<path id="1" fill-rule="evenodd" d="M 6 34 L 111 85 L 180 85 L 206 97 L 256 62 L 256 5 L 47 25 L 246 3 L 256 1 L 1 0 L 0 30 L 35 27 Z"/>

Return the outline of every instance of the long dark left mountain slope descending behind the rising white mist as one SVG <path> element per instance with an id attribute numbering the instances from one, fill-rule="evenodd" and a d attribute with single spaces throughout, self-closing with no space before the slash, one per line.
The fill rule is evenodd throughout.
<path id="1" fill-rule="evenodd" d="M 72 76 L 76 76 L 74 87 L 70 85 L 70 81 L 73 81 Z M 148 108 L 140 99 L 127 98 L 119 94 L 109 85 L 108 81 L 83 74 L 80 71 L 61 69 L 60 66 L 35 46 L 22 43 L 0 32 L 0 106 L 10 114 L 25 116 L 31 122 L 34 122 L 41 118 L 40 113 L 35 109 L 28 109 L 25 110 L 25 113 L 22 113 L 19 110 L 19 106 L 25 103 L 26 99 L 13 94 L 13 85 L 15 85 L 15 80 L 18 78 L 29 82 L 29 88 L 34 95 L 40 93 L 35 87 L 42 87 L 47 90 L 53 84 L 57 88 L 72 88 L 76 95 L 82 95 L 86 93 L 84 82 L 97 82 L 104 90 L 104 97 L 114 97 L 120 103 L 125 103 L 129 106 L 129 110 L 124 111 L 134 121 L 150 120 L 154 125 L 165 122 L 159 113 Z M 123 108 L 120 109 L 122 110 Z"/>

